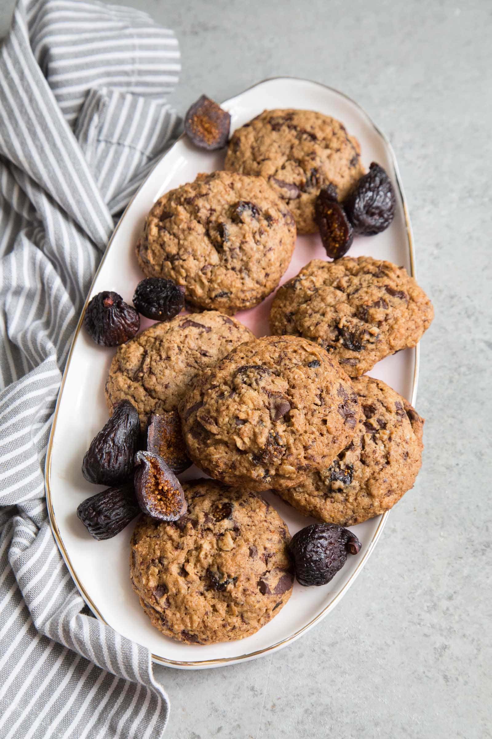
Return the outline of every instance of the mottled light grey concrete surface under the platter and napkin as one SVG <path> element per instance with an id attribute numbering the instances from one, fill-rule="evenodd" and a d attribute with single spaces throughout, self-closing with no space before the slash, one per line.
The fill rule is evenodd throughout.
<path id="1" fill-rule="evenodd" d="M 120 0 L 121 3 L 122 0 Z M 184 112 L 271 75 L 325 82 L 387 132 L 436 319 L 422 341 L 423 469 L 356 584 L 275 655 L 157 668 L 169 739 L 492 736 L 489 0 L 128 0 L 176 30 Z M 12 0 L 3 0 L 0 29 Z"/>

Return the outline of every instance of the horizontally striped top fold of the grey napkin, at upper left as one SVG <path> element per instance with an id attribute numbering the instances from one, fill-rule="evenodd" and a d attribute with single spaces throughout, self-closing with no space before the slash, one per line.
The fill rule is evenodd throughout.
<path id="1" fill-rule="evenodd" d="M 162 99 L 176 86 L 177 40 L 145 13 L 70 1 L 46 6 L 30 18 L 32 50 L 70 125 L 83 105 L 81 91 L 108 86 Z"/>

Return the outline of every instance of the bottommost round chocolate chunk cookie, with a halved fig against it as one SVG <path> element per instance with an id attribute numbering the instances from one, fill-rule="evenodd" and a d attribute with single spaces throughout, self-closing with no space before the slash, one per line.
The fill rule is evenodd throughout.
<path id="1" fill-rule="evenodd" d="M 288 601 L 287 525 L 245 489 L 184 483 L 187 514 L 145 517 L 131 539 L 131 581 L 159 631 L 188 644 L 251 636 Z"/>

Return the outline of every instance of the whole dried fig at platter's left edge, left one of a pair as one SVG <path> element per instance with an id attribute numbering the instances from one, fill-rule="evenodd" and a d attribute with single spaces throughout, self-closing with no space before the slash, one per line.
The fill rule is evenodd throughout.
<path id="1" fill-rule="evenodd" d="M 117 347 L 134 338 L 140 328 L 140 316 L 118 293 L 97 293 L 86 308 L 83 325 L 96 344 Z"/>

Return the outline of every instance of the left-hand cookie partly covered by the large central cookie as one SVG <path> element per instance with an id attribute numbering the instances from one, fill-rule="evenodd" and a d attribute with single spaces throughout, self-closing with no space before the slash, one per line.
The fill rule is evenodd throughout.
<path id="1" fill-rule="evenodd" d="M 246 326 L 216 310 L 154 324 L 118 347 L 105 386 L 109 412 L 130 401 L 145 428 L 150 413 L 178 406 L 197 372 L 252 338 Z"/>

